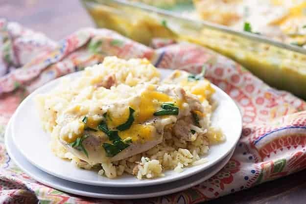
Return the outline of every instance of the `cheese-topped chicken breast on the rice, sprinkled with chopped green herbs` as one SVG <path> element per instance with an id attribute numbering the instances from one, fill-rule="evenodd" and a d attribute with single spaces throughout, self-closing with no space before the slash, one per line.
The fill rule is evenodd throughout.
<path id="1" fill-rule="evenodd" d="M 125 91 L 127 89 L 129 91 Z M 184 117 L 185 119 L 178 126 L 181 126 L 184 121 L 192 122 L 190 107 L 203 110 L 198 107 L 201 106 L 201 103 L 197 97 L 175 85 L 148 84 L 134 88 L 119 85 L 112 87 L 111 90 L 104 89 L 102 91 L 104 92 L 100 95 L 103 98 L 98 101 L 101 106 L 95 109 L 98 111 L 96 112 L 98 116 L 95 113 L 95 117 L 99 118 L 98 121 L 94 120 L 93 116 L 88 116 L 86 122 L 83 121 L 84 119 L 82 121 L 77 119 L 79 117 L 76 117 L 76 114 L 79 113 L 79 108 L 68 109 L 60 117 L 63 120 L 58 120 L 58 125 L 62 126 L 61 143 L 69 152 L 79 159 L 87 161 L 90 165 L 118 161 L 145 152 L 163 141 L 165 127 L 169 128 L 175 125 L 177 120 Z M 121 91 L 127 92 L 130 96 L 122 100 Z M 103 100 L 106 99 L 107 101 L 104 103 Z M 158 111 L 167 111 L 162 108 L 163 104 L 166 104 L 168 108 L 170 106 L 177 109 L 177 113 L 155 115 Z M 133 111 L 131 112 L 131 110 Z M 131 115 L 133 122 L 126 129 L 120 130 L 118 126 L 126 123 Z M 106 125 L 107 131 L 98 128 L 101 121 Z M 122 149 L 111 150 L 115 153 L 110 153 L 110 149 L 116 147 L 114 142 L 118 141 L 118 138 L 111 139 L 108 131 L 117 132 L 117 137 L 126 147 L 119 147 Z M 188 136 L 186 139 L 186 134 L 183 132 L 182 134 L 184 135 L 181 135 L 183 140 L 193 140 L 194 136 Z M 128 143 L 124 141 L 126 138 L 129 138 Z M 105 147 L 105 144 L 108 147 Z"/>

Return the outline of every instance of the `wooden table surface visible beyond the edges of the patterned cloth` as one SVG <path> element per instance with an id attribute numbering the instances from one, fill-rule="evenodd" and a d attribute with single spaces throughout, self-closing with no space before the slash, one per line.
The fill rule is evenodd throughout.
<path id="1" fill-rule="evenodd" d="M 16 21 L 60 40 L 94 26 L 77 0 L 0 0 L 0 18 Z M 306 204 L 306 170 L 205 204 Z"/>

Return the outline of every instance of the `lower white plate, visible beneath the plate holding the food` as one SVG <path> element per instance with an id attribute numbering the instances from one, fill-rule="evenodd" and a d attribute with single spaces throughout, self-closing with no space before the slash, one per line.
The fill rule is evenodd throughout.
<path id="1" fill-rule="evenodd" d="M 166 185 L 152 185 L 144 187 L 103 187 L 86 185 L 76 182 L 71 182 L 63 179 L 59 179 L 55 176 L 47 174 L 46 172 L 36 168 L 32 165 L 21 152 L 16 148 L 12 136 L 11 136 L 11 126 L 8 125 L 5 132 L 5 147 L 12 159 L 26 174 L 28 174 L 33 179 L 56 188 L 67 193 L 72 193 L 78 196 L 88 196 L 94 198 L 105 198 L 105 199 L 140 199 L 149 198 L 156 196 L 163 196 L 178 191 L 182 191 L 192 186 L 195 186 L 205 180 L 211 178 L 214 174 L 220 171 L 225 164 L 231 159 L 234 150 L 230 152 L 228 156 L 216 163 L 212 168 L 209 168 L 201 173 L 195 174 L 186 179 L 179 181 L 172 181 Z"/>

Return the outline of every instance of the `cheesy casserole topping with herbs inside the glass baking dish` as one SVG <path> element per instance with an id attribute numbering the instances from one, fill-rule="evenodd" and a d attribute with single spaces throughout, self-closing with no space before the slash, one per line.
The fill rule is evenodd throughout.
<path id="1" fill-rule="evenodd" d="M 306 43 L 305 0 L 193 0 L 200 18 L 295 45 Z"/>

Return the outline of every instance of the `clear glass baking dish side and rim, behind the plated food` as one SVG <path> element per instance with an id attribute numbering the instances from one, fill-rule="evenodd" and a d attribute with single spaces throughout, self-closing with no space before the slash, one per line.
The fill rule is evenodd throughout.
<path id="1" fill-rule="evenodd" d="M 194 20 L 124 0 L 82 0 L 98 27 L 106 27 L 145 45 L 171 38 L 209 47 L 224 54 L 280 90 L 306 99 L 306 49 L 226 26 Z"/>

